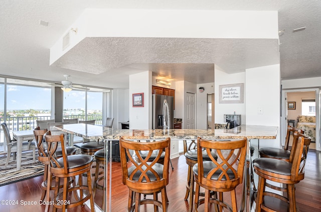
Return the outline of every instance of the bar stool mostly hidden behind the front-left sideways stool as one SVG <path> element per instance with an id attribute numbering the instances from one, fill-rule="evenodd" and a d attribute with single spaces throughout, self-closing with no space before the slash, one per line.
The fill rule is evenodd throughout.
<path id="1" fill-rule="evenodd" d="M 47 193 L 48 177 L 52 178 L 52 174 L 49 171 L 50 161 L 49 161 L 48 152 L 47 152 L 47 144 L 46 144 L 46 142 L 44 140 L 44 137 L 43 137 L 44 134 L 47 131 L 48 131 L 47 129 L 40 129 L 40 127 L 36 127 L 34 129 L 34 135 L 35 135 L 35 139 L 36 139 L 37 147 L 38 147 L 38 160 L 45 165 L 45 168 L 44 168 L 44 179 L 43 179 L 43 182 L 41 183 L 41 186 L 42 186 L 42 194 L 41 194 L 41 197 L 40 197 L 41 200 L 45 199 L 45 196 L 46 196 L 46 193 Z M 76 148 L 75 147 L 67 146 L 66 149 L 67 149 L 67 154 L 68 155 L 72 155 L 72 154 L 76 153 Z M 56 150 L 56 155 L 57 155 L 58 158 L 62 157 L 61 148 L 58 148 Z M 70 181 L 70 183 L 71 182 L 72 181 Z M 49 187 L 50 187 L 50 190 L 54 190 L 55 189 L 55 186 L 51 186 L 50 185 Z"/>

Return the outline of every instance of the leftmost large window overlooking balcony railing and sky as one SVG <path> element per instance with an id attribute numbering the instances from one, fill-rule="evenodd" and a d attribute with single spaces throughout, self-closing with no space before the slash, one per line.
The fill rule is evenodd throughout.
<path id="1" fill-rule="evenodd" d="M 0 86 L 0 121 L 6 122 L 10 131 L 34 129 L 37 119 L 50 119 L 50 83 L 1 78 Z M 6 151 L 4 137 L 0 139 L 0 152 Z"/>

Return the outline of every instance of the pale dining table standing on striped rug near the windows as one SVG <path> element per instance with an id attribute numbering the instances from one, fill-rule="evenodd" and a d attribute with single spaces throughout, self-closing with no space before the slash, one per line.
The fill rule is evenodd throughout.
<path id="1" fill-rule="evenodd" d="M 22 143 L 35 139 L 33 130 L 13 131 L 13 137 L 17 140 L 17 170 L 21 168 Z"/>

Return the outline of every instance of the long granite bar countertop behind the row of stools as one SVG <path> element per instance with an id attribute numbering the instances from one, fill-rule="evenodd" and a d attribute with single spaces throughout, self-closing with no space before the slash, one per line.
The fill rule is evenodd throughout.
<path id="1" fill-rule="evenodd" d="M 241 125 L 233 129 L 113 129 L 90 124 L 64 124 L 55 128 L 86 139 L 119 140 L 153 140 L 170 137 L 172 140 L 197 139 L 275 139 L 276 126 Z"/>

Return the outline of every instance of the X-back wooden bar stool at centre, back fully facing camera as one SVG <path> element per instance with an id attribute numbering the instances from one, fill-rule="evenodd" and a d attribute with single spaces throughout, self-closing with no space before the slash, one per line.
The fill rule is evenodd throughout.
<path id="1" fill-rule="evenodd" d="M 135 142 L 120 138 L 119 144 L 122 182 L 129 188 L 127 210 L 139 211 L 141 204 L 153 204 L 154 211 L 157 211 L 157 207 L 167 211 L 165 188 L 169 183 L 171 139 L 167 138 L 166 140 L 154 142 Z M 150 161 L 150 156 L 154 150 L 158 150 L 158 154 L 153 161 Z M 136 162 L 130 151 L 134 151 L 140 162 Z M 142 158 L 139 155 L 139 151 L 148 151 L 148 154 L 145 158 Z M 163 151 L 165 151 L 164 165 L 157 163 Z M 130 162 L 127 162 L 127 158 Z M 129 163 L 132 165 L 129 166 Z M 157 198 L 159 191 L 162 193 L 162 201 Z M 151 193 L 153 194 L 152 199 L 141 199 L 141 194 Z"/>

